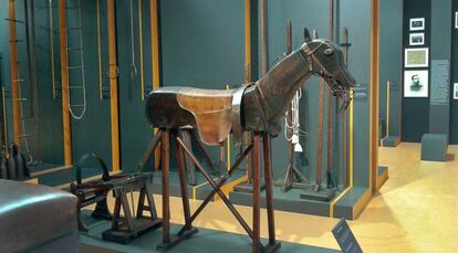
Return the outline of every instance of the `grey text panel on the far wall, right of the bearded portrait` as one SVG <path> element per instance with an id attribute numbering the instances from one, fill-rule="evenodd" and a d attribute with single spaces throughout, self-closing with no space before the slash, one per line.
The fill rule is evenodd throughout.
<path id="1" fill-rule="evenodd" d="M 431 99 L 430 105 L 448 105 L 450 98 L 450 62 L 431 61 Z"/>

